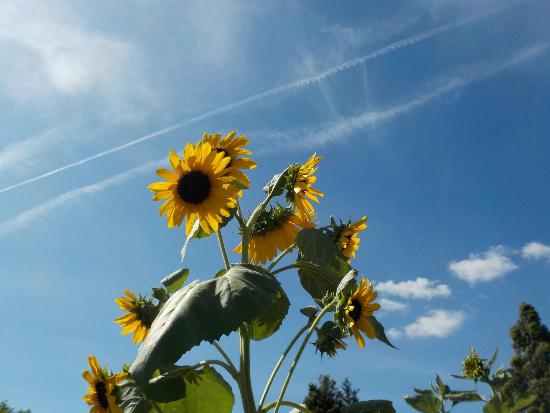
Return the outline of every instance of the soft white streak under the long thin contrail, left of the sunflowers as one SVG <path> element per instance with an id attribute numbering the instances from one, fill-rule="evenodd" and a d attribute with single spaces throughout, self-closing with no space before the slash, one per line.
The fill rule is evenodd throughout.
<path id="1" fill-rule="evenodd" d="M 166 163 L 165 159 L 150 161 L 145 164 L 128 169 L 120 174 L 111 176 L 102 181 L 86 185 L 71 191 L 65 192 L 53 199 L 50 199 L 34 208 L 28 209 L 13 218 L 8 219 L 0 224 L 0 237 L 8 235 L 12 232 L 18 231 L 31 225 L 38 218 L 46 215 L 47 213 L 56 210 L 60 206 L 66 207 L 71 202 L 74 202 L 86 195 L 93 195 L 98 192 L 104 191 L 115 185 L 120 185 L 133 177 L 151 171 L 151 169 L 161 166 Z"/>

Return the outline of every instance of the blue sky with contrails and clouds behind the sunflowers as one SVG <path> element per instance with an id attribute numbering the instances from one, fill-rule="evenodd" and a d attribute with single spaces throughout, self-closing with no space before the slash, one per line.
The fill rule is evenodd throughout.
<path id="1" fill-rule="evenodd" d="M 354 265 L 400 348 L 310 349 L 289 398 L 330 373 L 406 412 L 403 395 L 449 379 L 471 345 L 507 363 L 518 305 L 550 319 L 549 18 L 541 0 L 5 1 L 0 398 L 85 412 L 86 356 L 133 360 L 114 298 L 179 268 L 184 239 L 146 186 L 169 149 L 232 129 L 259 165 L 247 210 L 288 163 L 324 157 L 319 219 L 369 217 Z M 192 243 L 191 279 L 221 268 L 215 248 Z M 292 306 L 253 346 L 257 394 L 310 303 L 281 279 Z"/>

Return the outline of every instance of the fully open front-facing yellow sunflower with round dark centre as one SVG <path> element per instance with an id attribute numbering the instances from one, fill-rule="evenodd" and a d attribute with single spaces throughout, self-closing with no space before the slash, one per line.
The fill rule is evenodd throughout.
<path id="1" fill-rule="evenodd" d="M 154 201 L 166 199 L 160 214 L 166 215 L 168 228 L 181 225 L 186 219 L 185 233 L 189 234 L 195 220 L 207 233 L 216 232 L 229 209 L 235 207 L 238 188 L 231 185 L 226 167 L 231 158 L 212 149 L 209 143 L 187 144 L 181 159 L 170 151 L 173 171 L 157 169 L 157 175 L 166 179 L 147 188 L 155 192 Z"/>

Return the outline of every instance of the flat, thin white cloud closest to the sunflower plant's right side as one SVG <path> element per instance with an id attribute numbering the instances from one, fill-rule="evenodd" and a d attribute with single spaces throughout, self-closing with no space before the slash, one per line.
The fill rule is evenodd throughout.
<path id="1" fill-rule="evenodd" d="M 451 289 L 447 284 L 438 284 L 437 281 L 423 277 L 401 282 L 392 280 L 381 282 L 376 284 L 376 291 L 417 300 L 431 300 L 434 297 L 448 297 L 451 295 Z"/>

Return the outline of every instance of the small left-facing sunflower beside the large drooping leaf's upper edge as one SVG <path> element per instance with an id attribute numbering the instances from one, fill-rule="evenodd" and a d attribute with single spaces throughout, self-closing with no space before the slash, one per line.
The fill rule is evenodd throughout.
<path id="1" fill-rule="evenodd" d="M 122 327 L 122 334 L 133 331 L 132 341 L 134 344 L 139 344 L 147 337 L 157 310 L 151 301 L 141 296 L 138 298 L 129 290 L 124 290 L 124 294 L 126 297 L 118 297 L 115 302 L 122 311 L 128 311 L 128 313 L 115 318 L 115 322 Z"/>

